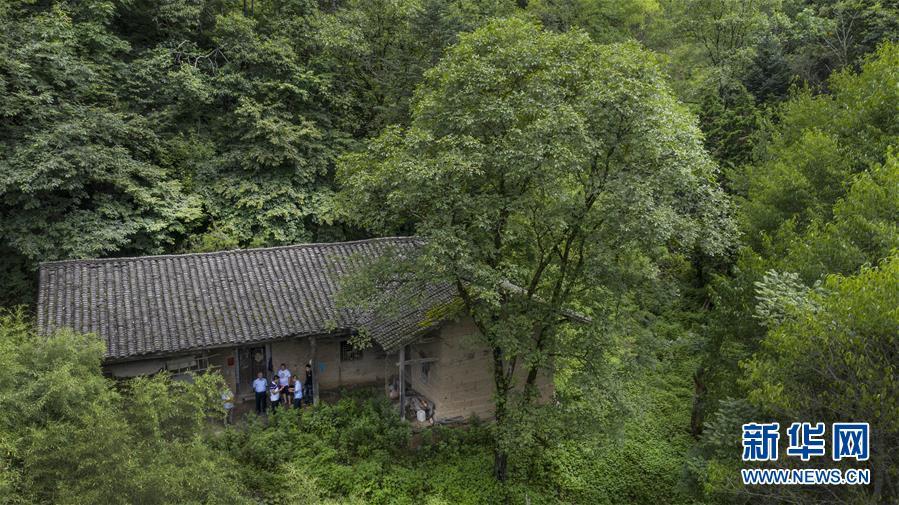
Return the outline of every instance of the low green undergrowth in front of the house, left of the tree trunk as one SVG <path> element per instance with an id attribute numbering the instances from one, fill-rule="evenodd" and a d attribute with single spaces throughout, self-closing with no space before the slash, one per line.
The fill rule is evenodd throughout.
<path id="1" fill-rule="evenodd" d="M 495 501 L 483 427 L 416 435 L 383 397 L 277 412 L 262 426 L 214 441 L 240 463 L 262 503 L 483 503 Z"/>

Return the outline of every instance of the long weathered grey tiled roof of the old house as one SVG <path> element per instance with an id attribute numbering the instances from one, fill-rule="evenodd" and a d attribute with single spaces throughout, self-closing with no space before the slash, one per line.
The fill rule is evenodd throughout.
<path id="1" fill-rule="evenodd" d="M 341 276 L 414 238 L 383 238 L 214 253 L 71 260 L 40 267 L 38 327 L 96 333 L 107 358 L 168 354 L 335 329 L 365 329 L 396 350 L 427 329 L 429 306 L 449 287 L 424 293 L 424 305 L 375 318 L 338 310 Z"/>

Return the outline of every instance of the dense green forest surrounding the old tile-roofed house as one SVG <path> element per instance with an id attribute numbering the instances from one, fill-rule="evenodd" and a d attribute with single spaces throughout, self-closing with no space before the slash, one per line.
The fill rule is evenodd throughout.
<path id="1" fill-rule="evenodd" d="M 899 2 L 4 0 L 0 27 L 0 502 L 899 503 Z M 114 383 L 32 323 L 44 261 L 413 234 L 406 273 L 464 279 L 551 404 L 222 428 L 214 374 Z M 759 420 L 870 423 L 871 484 L 743 485 Z"/>

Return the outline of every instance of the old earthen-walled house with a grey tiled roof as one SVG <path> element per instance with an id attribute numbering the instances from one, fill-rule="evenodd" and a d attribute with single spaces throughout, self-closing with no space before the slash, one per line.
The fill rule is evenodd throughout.
<path id="1" fill-rule="evenodd" d="M 213 253 L 71 260 L 40 267 L 38 325 L 95 333 L 115 377 L 220 370 L 238 398 L 257 372 L 312 362 L 319 389 L 378 384 L 415 392 L 437 421 L 489 417 L 488 350 L 470 318 L 433 320 L 455 296 L 435 288 L 391 316 L 338 307 L 341 279 L 411 238 L 382 238 Z M 353 347 L 364 330 L 372 346 Z M 548 391 L 550 381 L 542 381 Z M 401 407 L 402 408 L 402 407 Z"/>

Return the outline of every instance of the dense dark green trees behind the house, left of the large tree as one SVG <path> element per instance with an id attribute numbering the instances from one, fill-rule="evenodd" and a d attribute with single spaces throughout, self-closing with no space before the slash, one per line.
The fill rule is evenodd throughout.
<path id="1" fill-rule="evenodd" d="M 0 10 L 9 291 L 62 258 L 326 241 L 334 160 L 408 121 L 456 33 L 510 2 L 55 2 Z"/>

